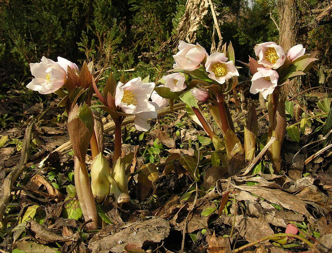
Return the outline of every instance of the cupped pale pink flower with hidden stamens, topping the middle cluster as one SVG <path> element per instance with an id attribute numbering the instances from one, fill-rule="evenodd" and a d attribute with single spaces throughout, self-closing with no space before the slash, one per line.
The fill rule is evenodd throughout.
<path id="1" fill-rule="evenodd" d="M 175 59 L 175 63 L 173 64 L 174 69 L 195 70 L 208 57 L 206 50 L 198 43 L 195 46 L 194 44 L 180 41 L 178 49 L 179 52 L 173 55 Z"/>

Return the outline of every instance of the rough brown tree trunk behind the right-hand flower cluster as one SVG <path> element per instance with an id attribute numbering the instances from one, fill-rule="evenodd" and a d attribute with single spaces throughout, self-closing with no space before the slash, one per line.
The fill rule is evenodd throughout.
<path id="1" fill-rule="evenodd" d="M 298 43 L 299 10 L 296 0 L 277 0 L 277 8 L 279 14 L 279 45 L 287 52 Z M 300 78 L 295 78 L 289 84 L 283 86 L 282 95 L 292 97 L 302 90 Z M 300 97 L 298 99 L 303 100 Z"/>

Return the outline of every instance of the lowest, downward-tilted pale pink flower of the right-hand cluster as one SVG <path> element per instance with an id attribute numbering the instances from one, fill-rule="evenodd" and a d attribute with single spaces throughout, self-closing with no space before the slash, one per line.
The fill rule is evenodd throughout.
<path id="1" fill-rule="evenodd" d="M 262 93 L 264 99 L 272 94 L 278 83 L 279 74 L 271 68 L 259 67 L 257 72 L 251 78 L 250 92 L 256 94 Z"/>

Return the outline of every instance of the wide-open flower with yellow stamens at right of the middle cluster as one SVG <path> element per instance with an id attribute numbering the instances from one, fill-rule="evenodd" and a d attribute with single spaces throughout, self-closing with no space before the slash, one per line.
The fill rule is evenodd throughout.
<path id="1" fill-rule="evenodd" d="M 239 76 L 233 61 L 227 61 L 228 58 L 224 53 L 215 52 L 207 57 L 205 68 L 209 72 L 208 77 L 222 84 L 232 76 Z"/>

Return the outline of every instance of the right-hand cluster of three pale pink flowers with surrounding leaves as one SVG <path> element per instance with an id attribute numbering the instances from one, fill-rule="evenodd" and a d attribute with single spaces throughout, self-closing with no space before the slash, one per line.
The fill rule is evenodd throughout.
<path id="1" fill-rule="evenodd" d="M 260 92 L 264 99 L 272 94 L 277 85 L 286 84 L 291 78 L 304 74 L 306 67 L 315 59 L 314 55 L 304 55 L 305 48 L 296 45 L 285 53 L 274 42 L 264 42 L 254 47 L 257 61 L 250 58 L 250 70 L 253 74 L 250 92 Z"/>

